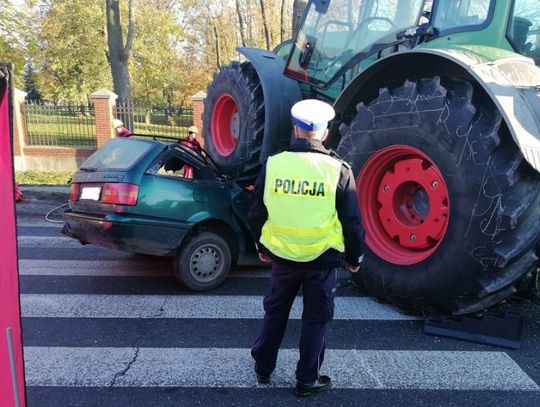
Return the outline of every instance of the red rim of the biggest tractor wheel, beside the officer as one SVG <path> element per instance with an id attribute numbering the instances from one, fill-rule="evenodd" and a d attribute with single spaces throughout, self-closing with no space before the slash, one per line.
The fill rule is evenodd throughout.
<path id="1" fill-rule="evenodd" d="M 362 167 L 356 190 L 366 244 L 382 259 L 416 264 L 441 244 L 449 222 L 448 189 L 422 151 L 405 145 L 378 151 Z"/>

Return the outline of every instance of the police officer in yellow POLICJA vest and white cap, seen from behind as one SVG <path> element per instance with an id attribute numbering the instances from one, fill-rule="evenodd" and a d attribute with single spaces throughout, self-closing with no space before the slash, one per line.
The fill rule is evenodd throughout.
<path id="1" fill-rule="evenodd" d="M 257 381 L 270 383 L 289 312 L 302 287 L 295 392 L 305 397 L 330 387 L 330 377 L 321 375 L 320 368 L 326 324 L 334 315 L 337 268 L 358 271 L 363 230 L 352 171 L 322 145 L 334 109 L 308 99 L 296 103 L 291 114 L 292 146 L 268 158 L 248 213 L 259 257 L 272 263 L 263 326 L 251 354 Z"/>

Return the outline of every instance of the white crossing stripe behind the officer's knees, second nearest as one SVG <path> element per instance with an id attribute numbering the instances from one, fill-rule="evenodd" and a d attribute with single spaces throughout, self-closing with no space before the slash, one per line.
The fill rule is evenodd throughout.
<path id="1" fill-rule="evenodd" d="M 50 318 L 222 318 L 259 319 L 264 315 L 262 296 L 249 295 L 94 295 L 22 294 L 23 317 Z M 302 298 L 290 314 L 301 319 Z M 389 304 L 367 297 L 337 297 L 335 320 L 415 320 Z"/>

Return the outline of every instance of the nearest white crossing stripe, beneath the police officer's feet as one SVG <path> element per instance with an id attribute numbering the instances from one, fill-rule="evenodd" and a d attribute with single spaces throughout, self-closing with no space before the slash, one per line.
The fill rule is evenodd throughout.
<path id="1" fill-rule="evenodd" d="M 256 387 L 249 349 L 26 347 L 29 386 Z M 298 351 L 281 350 L 269 387 L 291 387 Z M 504 352 L 327 350 L 340 389 L 525 390 L 538 385 Z"/>

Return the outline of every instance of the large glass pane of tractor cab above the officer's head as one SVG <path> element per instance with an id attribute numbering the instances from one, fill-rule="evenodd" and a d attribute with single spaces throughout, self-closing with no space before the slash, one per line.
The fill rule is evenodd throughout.
<path id="1" fill-rule="evenodd" d="M 312 1 L 285 72 L 324 87 L 353 56 L 417 25 L 423 9 L 424 0 Z"/>

